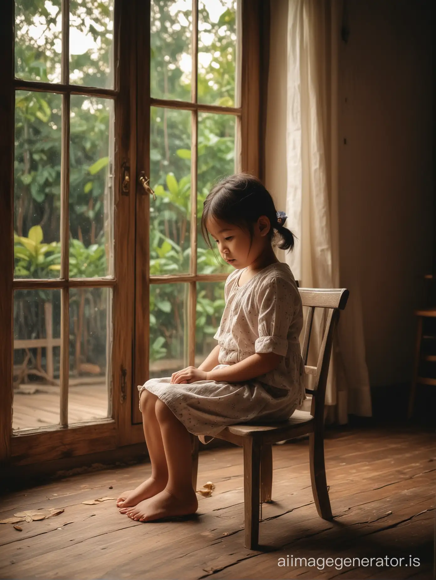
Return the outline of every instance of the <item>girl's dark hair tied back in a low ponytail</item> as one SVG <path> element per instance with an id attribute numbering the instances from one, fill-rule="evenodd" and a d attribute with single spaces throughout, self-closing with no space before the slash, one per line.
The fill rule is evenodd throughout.
<path id="1" fill-rule="evenodd" d="M 215 184 L 204 200 L 201 233 L 208 247 L 212 248 L 206 223 L 209 218 L 215 218 L 244 227 L 252 239 L 253 224 L 260 216 L 266 216 L 270 221 L 270 241 L 275 230 L 281 238 L 279 248 L 294 249 L 294 234 L 277 221 L 276 208 L 269 191 L 250 173 L 236 173 Z"/>

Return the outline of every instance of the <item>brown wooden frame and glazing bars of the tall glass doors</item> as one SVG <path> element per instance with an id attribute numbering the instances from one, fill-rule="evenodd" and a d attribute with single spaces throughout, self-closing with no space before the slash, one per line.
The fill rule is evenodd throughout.
<path id="1" fill-rule="evenodd" d="M 143 0 L 119 2 L 115 9 L 114 61 L 118 66 L 114 70 L 114 89 L 96 89 L 79 85 L 69 85 L 65 74 L 68 71 L 68 46 L 63 45 L 63 76 L 61 84 L 23 81 L 14 79 L 13 59 L 13 26 L 14 1 L 8 0 L 3 8 L 3 19 L 0 23 L 0 49 L 4 61 L 9 63 L 6 74 L 0 84 L 0 125 L 3 128 L 0 136 L 0 183 L 1 211 L 0 211 L 0 464 L 22 466 L 31 463 L 47 462 L 95 454 L 109 451 L 134 443 L 143 443 L 144 436 L 141 425 L 132 425 L 134 411 L 137 405 L 137 389 L 134 378 L 140 376 L 137 365 L 138 353 L 144 354 L 148 365 L 148 341 L 146 336 L 149 330 L 149 317 L 142 316 L 141 308 L 134 311 L 136 271 L 136 292 L 142 292 L 142 305 L 149 300 L 149 285 L 166 282 L 188 282 L 190 285 L 189 316 L 193 332 L 190 332 L 189 361 L 193 362 L 195 355 L 195 301 L 196 282 L 225 280 L 226 274 L 197 274 L 196 252 L 191 255 L 189 274 L 179 276 L 149 275 L 149 242 L 142 244 L 135 241 L 135 231 L 131 227 L 135 215 L 145 216 L 145 226 L 149 229 L 148 198 L 140 190 L 138 175 L 145 171 L 149 175 L 149 144 L 144 139 L 137 139 L 136 124 L 142 122 L 147 126 L 149 135 L 149 110 L 151 106 L 167 108 L 189 109 L 192 113 L 192 143 L 196 144 L 197 115 L 199 111 L 211 113 L 235 114 L 240 123 L 240 168 L 253 175 L 263 178 L 263 137 L 265 130 L 265 108 L 263 107 L 266 95 L 266 68 L 265 60 L 261 58 L 261 45 L 268 39 L 268 2 L 262 0 L 241 1 L 241 96 L 240 107 L 218 107 L 198 103 L 178 103 L 150 97 L 149 75 L 139 70 L 140 64 L 146 57 L 149 62 L 150 30 L 144 27 L 144 22 L 150 19 L 150 3 Z M 193 3 L 197 6 L 197 0 Z M 63 0 L 63 14 L 69 13 L 68 0 Z M 195 13 L 197 11 L 195 10 Z M 194 24 L 194 23 L 193 23 Z M 63 27 L 67 26 L 64 23 Z M 196 23 L 195 23 L 196 28 Z M 193 27 L 193 29 L 195 30 Z M 63 34 L 63 43 L 66 35 Z M 194 41 L 194 54 L 197 51 L 197 42 Z M 129 50 L 119 52 L 119 46 Z M 66 63 L 65 63 L 66 60 Z M 196 79 L 195 79 L 196 81 Z M 193 83 L 193 86 L 197 83 Z M 135 88 L 132 90 L 132 88 Z M 69 187 L 68 172 L 63 172 L 63 211 L 61 210 L 61 240 L 63 241 L 61 276 L 55 280 L 13 280 L 13 158 L 14 158 L 14 93 L 19 89 L 31 89 L 60 93 L 63 95 L 63 127 L 68 128 L 69 118 L 64 118 L 68 111 L 71 95 L 90 95 L 115 100 L 115 134 L 118 143 L 114 160 L 114 191 L 115 191 L 115 256 L 114 272 L 112 277 L 69 280 L 68 278 L 68 204 L 65 204 Z M 141 101 L 137 95 L 145 95 Z M 196 99 L 192 99 L 196 101 Z M 180 106 L 181 105 L 181 106 Z M 194 127 L 195 125 L 195 127 Z M 63 128 L 62 144 L 63 157 L 68 155 L 68 131 Z M 196 156 L 195 156 L 196 157 Z M 131 187 L 129 195 L 121 195 L 122 164 L 130 167 Z M 63 164 L 65 166 L 65 163 Z M 197 180 L 196 158 L 191 162 L 192 183 Z M 133 179 L 134 178 L 134 179 Z M 135 183 L 135 186 L 133 186 Z M 196 191 L 192 193 L 196 200 Z M 191 209 L 191 240 L 196 250 L 196 203 Z M 146 256 L 145 262 L 144 257 Z M 118 284 L 118 280 L 126 283 Z M 130 281 L 130 282 L 129 282 Z M 23 288 L 53 288 L 60 289 L 64 303 L 64 318 L 61 321 L 61 342 L 64 346 L 64 356 L 61 366 L 61 422 L 68 423 L 67 416 L 67 385 L 68 381 L 68 341 L 69 324 L 68 312 L 69 288 L 77 287 L 107 287 L 114 293 L 113 309 L 113 350 L 118 349 L 118 360 L 122 360 L 120 368 L 112 367 L 112 418 L 103 419 L 77 425 L 54 426 L 45 430 L 28 430 L 23 434 L 12 433 L 12 404 L 13 404 L 13 292 Z M 116 299 L 115 299 L 116 298 Z M 65 314 L 67 316 L 65 316 Z M 134 340 L 134 324 L 142 324 L 142 340 Z M 122 322 L 121 322 L 122 321 Z M 65 348 L 66 347 L 66 348 Z M 137 356 L 134 357 L 134 353 Z M 65 354 L 66 353 L 66 354 Z M 135 362 L 134 362 L 135 358 Z M 134 372 L 135 371 L 135 372 Z M 129 401 L 129 404 L 126 404 Z M 132 416 L 133 415 L 133 416 Z M 56 436 L 56 447 L 53 437 Z"/>

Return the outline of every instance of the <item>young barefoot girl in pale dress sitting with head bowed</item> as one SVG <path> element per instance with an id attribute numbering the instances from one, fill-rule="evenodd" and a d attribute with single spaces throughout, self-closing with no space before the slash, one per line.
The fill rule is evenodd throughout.
<path id="1" fill-rule="evenodd" d="M 225 284 L 218 345 L 199 366 L 138 387 L 152 473 L 117 501 L 133 520 L 194 513 L 190 433 L 219 433 L 226 425 L 288 419 L 306 398 L 299 345 L 301 298 L 272 242 L 292 250 L 286 216 L 255 177 L 239 173 L 214 186 L 204 202 L 201 230 L 235 267 Z M 204 438 L 203 438 L 204 441 Z"/>

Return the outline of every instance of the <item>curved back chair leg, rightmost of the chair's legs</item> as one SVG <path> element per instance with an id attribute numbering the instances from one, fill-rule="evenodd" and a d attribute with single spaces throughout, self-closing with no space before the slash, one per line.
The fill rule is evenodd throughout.
<path id="1" fill-rule="evenodd" d="M 309 463 L 313 499 L 318 515 L 323 520 L 332 520 L 332 509 L 325 479 L 324 437 L 320 433 L 309 434 Z"/>

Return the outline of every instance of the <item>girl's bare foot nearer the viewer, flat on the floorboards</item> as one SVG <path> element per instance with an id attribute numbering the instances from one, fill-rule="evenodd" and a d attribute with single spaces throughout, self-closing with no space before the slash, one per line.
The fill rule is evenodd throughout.
<path id="1" fill-rule="evenodd" d="M 165 488 L 152 498 L 138 503 L 127 510 L 127 516 L 135 521 L 153 521 L 167 517 L 187 516 L 198 509 L 195 491 L 191 488 L 186 492 L 174 495 Z"/>

